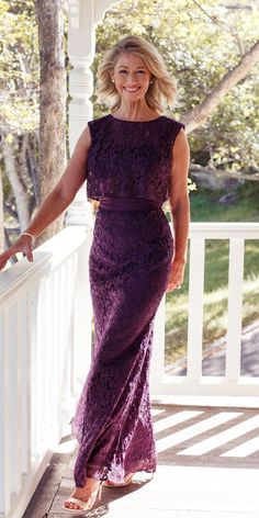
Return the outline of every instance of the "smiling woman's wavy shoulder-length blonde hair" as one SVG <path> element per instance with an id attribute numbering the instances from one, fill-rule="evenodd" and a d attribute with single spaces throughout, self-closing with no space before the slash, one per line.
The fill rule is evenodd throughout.
<path id="1" fill-rule="evenodd" d="M 133 53 L 143 58 L 151 74 L 153 82 L 146 92 L 146 103 L 151 110 L 164 111 L 166 103 L 173 106 L 177 92 L 177 81 L 169 76 L 164 58 L 156 47 L 138 36 L 126 36 L 106 50 L 97 71 L 98 102 L 109 104 L 111 111 L 121 105 L 121 95 L 112 82 L 111 72 L 122 53 Z"/>

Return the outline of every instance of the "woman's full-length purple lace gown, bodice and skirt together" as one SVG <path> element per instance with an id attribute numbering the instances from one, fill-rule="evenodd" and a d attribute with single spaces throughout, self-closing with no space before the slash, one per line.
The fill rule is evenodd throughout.
<path id="1" fill-rule="evenodd" d="M 89 258 L 95 339 L 72 419 L 77 487 L 87 476 L 123 482 L 130 472 L 156 471 L 148 375 L 154 317 L 173 255 L 161 205 L 172 144 L 184 127 L 165 115 L 132 122 L 109 114 L 88 125 L 87 195 L 108 198 L 108 206 L 101 201 Z"/>

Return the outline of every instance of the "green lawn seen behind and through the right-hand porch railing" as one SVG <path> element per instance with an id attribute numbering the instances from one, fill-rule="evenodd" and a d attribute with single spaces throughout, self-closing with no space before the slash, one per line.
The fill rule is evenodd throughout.
<path id="1" fill-rule="evenodd" d="M 257 192 L 244 193 L 234 205 L 222 205 L 217 192 L 191 193 L 191 221 L 193 222 L 258 222 Z M 227 328 L 228 297 L 227 239 L 207 239 L 205 243 L 205 277 L 203 306 L 203 347 L 225 336 Z M 188 254 L 189 257 L 189 254 Z M 258 318 L 259 306 L 259 240 L 245 244 L 245 273 L 243 283 L 243 326 Z M 189 261 L 180 292 L 166 295 L 166 363 L 187 354 Z"/>

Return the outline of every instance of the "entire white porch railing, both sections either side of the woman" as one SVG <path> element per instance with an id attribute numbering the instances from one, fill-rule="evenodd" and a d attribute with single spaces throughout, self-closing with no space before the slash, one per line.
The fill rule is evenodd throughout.
<path id="1" fill-rule="evenodd" d="M 202 376 L 205 239 L 229 239 L 225 376 Z M 244 240 L 259 224 L 200 224 L 190 229 L 188 373 L 166 376 L 165 297 L 155 320 L 153 398 L 179 395 L 249 396 L 259 378 L 241 378 Z M 91 360 L 88 259 L 92 228 L 70 226 L 0 273 L 0 513 L 21 518 L 63 436 Z"/>

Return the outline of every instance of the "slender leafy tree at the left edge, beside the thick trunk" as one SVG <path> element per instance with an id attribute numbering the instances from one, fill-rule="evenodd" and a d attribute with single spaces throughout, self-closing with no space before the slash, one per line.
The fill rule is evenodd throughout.
<path id="1" fill-rule="evenodd" d="M 0 123 L 4 211 L 24 229 L 37 200 L 38 59 L 34 4 L 0 3 Z"/>

